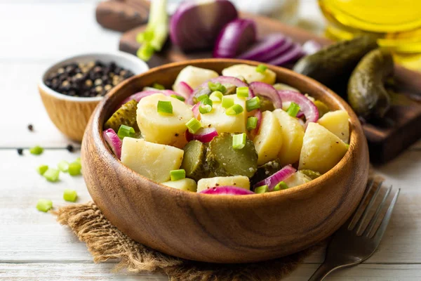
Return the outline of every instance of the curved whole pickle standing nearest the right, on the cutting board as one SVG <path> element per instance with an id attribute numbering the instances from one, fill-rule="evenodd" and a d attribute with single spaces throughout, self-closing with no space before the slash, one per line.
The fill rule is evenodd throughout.
<path id="1" fill-rule="evenodd" d="M 382 118 L 390 107 L 385 80 L 393 73 L 392 55 L 376 49 L 356 66 L 348 83 L 348 102 L 361 117 Z"/>

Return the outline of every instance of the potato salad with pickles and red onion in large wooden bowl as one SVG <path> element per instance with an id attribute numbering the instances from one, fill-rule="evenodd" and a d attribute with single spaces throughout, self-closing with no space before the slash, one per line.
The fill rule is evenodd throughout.
<path id="1" fill-rule="evenodd" d="M 154 83 L 123 100 L 103 136 L 124 165 L 169 188 L 252 195 L 332 169 L 349 148 L 349 116 L 265 65 L 187 66 L 172 89 Z"/>

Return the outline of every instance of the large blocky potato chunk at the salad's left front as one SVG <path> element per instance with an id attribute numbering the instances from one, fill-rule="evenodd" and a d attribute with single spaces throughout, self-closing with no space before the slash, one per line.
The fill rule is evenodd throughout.
<path id="1" fill-rule="evenodd" d="M 180 168 L 183 154 L 183 150 L 170 145 L 126 137 L 121 147 L 121 162 L 138 174 L 163 183 L 170 179 L 170 171 Z"/>

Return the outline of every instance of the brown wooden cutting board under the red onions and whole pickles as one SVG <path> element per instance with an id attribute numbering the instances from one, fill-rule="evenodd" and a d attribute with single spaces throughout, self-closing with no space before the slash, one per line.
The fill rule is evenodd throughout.
<path id="1" fill-rule="evenodd" d="M 119 13 L 121 16 L 121 11 Z M 301 44 L 309 39 L 319 42 L 322 46 L 332 44 L 329 39 L 318 37 L 298 27 L 284 25 L 277 20 L 250 14 L 241 14 L 241 17 L 255 20 L 259 36 L 280 32 Z M 140 25 L 125 32 L 121 36 L 119 49 L 135 54 L 140 46 L 135 37 L 143 29 L 145 29 L 145 25 Z M 155 67 L 165 63 L 210 57 L 210 51 L 183 53 L 168 41 L 163 51 L 154 55 L 148 64 L 150 67 Z M 395 77 L 395 91 L 405 93 L 405 96 L 398 96 L 401 98 L 395 100 L 382 124 L 363 124 L 370 149 L 370 160 L 375 164 L 385 163 L 393 159 L 421 137 L 421 73 L 398 66 L 395 67 Z M 345 93 L 339 94 L 346 96 Z M 407 96 L 411 96 L 411 98 L 406 98 Z"/>

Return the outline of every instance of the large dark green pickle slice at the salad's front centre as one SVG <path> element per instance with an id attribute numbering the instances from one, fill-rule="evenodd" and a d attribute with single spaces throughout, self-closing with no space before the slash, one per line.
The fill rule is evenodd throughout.
<path id="1" fill-rule="evenodd" d="M 253 141 L 246 139 L 241 149 L 232 148 L 232 133 L 221 133 L 209 143 L 206 153 L 208 177 L 248 176 L 251 178 L 258 169 L 258 153 Z"/>

